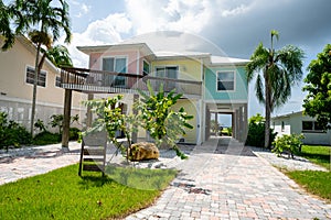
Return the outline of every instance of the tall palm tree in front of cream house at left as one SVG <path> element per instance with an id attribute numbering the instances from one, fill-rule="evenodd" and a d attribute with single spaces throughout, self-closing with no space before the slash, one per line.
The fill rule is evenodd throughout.
<path id="1" fill-rule="evenodd" d="M 28 33 L 36 46 L 31 113 L 31 133 L 33 134 L 38 78 L 45 58 L 42 47 L 50 50 L 53 42 L 58 40 L 61 31 L 65 33 L 65 43 L 70 43 L 72 33 L 68 4 L 65 0 L 15 0 L 9 7 L 1 1 L 0 7 L 4 9 L 4 12 L 0 14 L 0 22 L 4 24 L 0 28 L 0 33 L 4 35 L 2 50 L 11 47 L 15 34 L 23 33 Z M 15 24 L 14 31 L 10 28 L 10 21 Z"/>

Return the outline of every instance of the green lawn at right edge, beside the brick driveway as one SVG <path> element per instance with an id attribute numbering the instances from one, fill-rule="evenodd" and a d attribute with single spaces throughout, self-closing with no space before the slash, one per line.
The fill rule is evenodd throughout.
<path id="1" fill-rule="evenodd" d="M 319 196 L 331 202 L 331 146 L 303 145 L 300 156 L 321 165 L 329 172 L 295 170 L 286 172 L 296 183 L 301 185 L 307 191 Z"/>

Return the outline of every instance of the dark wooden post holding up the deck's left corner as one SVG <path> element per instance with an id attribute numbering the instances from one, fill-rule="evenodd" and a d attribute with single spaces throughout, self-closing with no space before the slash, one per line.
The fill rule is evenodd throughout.
<path id="1" fill-rule="evenodd" d="M 68 147 L 71 111 L 72 111 L 72 90 L 65 89 L 64 110 L 63 110 L 62 147 Z"/>

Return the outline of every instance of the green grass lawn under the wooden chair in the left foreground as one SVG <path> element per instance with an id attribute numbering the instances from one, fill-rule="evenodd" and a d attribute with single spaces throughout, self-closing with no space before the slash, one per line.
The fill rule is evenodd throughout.
<path id="1" fill-rule="evenodd" d="M 167 169 L 142 170 L 149 175 L 146 185 L 159 186 L 147 190 L 119 184 L 99 173 L 85 172 L 81 178 L 77 170 L 78 165 L 71 165 L 0 186 L 0 219 L 121 218 L 150 206 L 177 174 Z M 132 184 L 139 180 L 134 179 Z"/>

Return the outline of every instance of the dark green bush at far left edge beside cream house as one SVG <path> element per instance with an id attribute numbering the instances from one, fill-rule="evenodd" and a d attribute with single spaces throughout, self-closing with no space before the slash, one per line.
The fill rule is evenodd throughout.
<path id="1" fill-rule="evenodd" d="M 14 121 L 8 121 L 7 118 L 6 112 L 0 112 L 0 148 L 31 144 L 32 136 L 26 129 Z"/>

